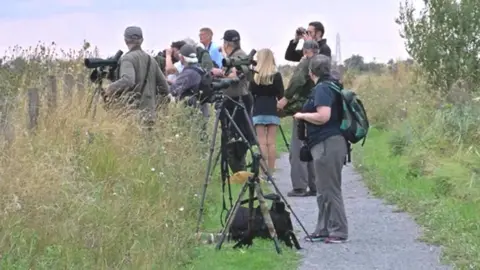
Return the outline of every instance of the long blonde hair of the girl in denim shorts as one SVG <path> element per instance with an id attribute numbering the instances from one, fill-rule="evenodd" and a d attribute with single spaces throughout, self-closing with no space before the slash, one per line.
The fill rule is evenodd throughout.
<path id="1" fill-rule="evenodd" d="M 258 85 L 273 84 L 273 77 L 277 73 L 275 57 L 270 49 L 261 49 L 257 52 L 257 65 L 255 66 L 253 81 Z"/>

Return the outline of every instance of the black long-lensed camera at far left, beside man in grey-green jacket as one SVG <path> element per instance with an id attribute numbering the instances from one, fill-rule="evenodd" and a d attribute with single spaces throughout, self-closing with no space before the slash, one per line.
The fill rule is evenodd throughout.
<path id="1" fill-rule="evenodd" d="M 102 79 L 110 81 L 117 80 L 117 68 L 119 66 L 120 57 L 123 52 L 118 50 L 117 53 L 107 59 L 102 58 L 85 58 L 84 64 L 86 68 L 93 69 L 90 74 L 90 81 L 100 83 Z"/>

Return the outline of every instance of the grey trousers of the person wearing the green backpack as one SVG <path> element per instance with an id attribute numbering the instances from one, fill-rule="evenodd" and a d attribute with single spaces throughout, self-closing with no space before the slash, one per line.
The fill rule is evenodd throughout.
<path id="1" fill-rule="evenodd" d="M 333 136 L 312 149 L 317 185 L 318 221 L 316 234 L 348 237 L 347 215 L 342 197 L 342 168 L 347 145 L 343 136 Z"/>

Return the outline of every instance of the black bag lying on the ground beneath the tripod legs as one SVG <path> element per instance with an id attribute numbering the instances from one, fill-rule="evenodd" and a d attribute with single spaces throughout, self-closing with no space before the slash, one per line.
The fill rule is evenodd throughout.
<path id="1" fill-rule="evenodd" d="M 273 226 L 277 233 L 278 239 L 283 241 L 286 246 L 292 248 L 295 246 L 297 249 L 301 249 L 300 244 L 293 232 L 293 225 L 290 219 L 290 212 L 285 209 L 285 203 L 280 200 L 280 197 L 276 194 L 265 195 L 265 199 L 272 200 L 272 206 L 269 213 L 273 221 Z M 248 203 L 248 200 L 242 201 L 242 204 Z M 230 237 L 234 241 L 245 241 L 248 238 L 248 207 L 240 206 L 237 210 L 237 214 L 233 219 L 232 226 L 230 227 Z M 260 206 L 257 206 L 254 210 L 254 223 L 252 228 L 252 234 L 250 238 L 264 238 L 271 239 L 268 227 L 262 216 L 262 210 Z M 251 239 L 249 239 L 251 241 Z M 248 241 L 248 240 L 247 240 Z"/>

